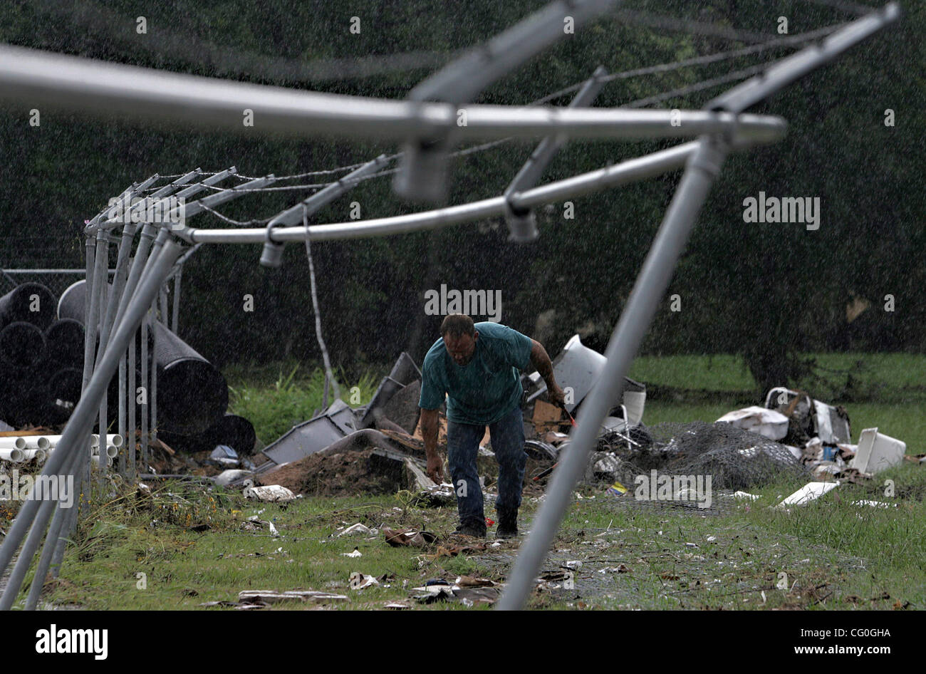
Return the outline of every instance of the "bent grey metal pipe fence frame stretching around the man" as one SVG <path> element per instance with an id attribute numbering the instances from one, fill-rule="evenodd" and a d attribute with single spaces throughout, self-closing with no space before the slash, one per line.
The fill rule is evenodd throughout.
<path id="1" fill-rule="evenodd" d="M 589 6 L 593 4 L 590 2 Z M 535 519 L 531 535 L 521 547 L 507 588 L 498 605 L 502 610 L 519 608 L 531 591 L 536 572 L 543 564 L 549 544 L 569 506 L 569 496 L 582 473 L 596 432 L 607 415 L 609 401 L 616 399 L 623 388 L 624 375 L 648 330 L 657 304 L 665 293 L 678 257 L 694 227 L 697 214 L 707 198 L 711 184 L 720 173 L 724 158 L 738 146 L 771 142 L 780 138 L 783 133 L 784 124 L 781 119 L 759 118 L 739 113 L 779 91 L 783 86 L 807 72 L 832 60 L 849 46 L 857 44 L 875 31 L 894 22 L 899 16 L 899 6 L 891 3 L 879 12 L 873 12 L 862 19 L 857 19 L 844 29 L 832 33 L 819 46 L 808 47 L 794 56 L 784 58 L 757 78 L 734 87 L 726 94 L 721 94 L 708 104 L 706 111 L 701 113 L 684 111 L 681 117 L 675 119 L 676 123 L 681 119 L 681 127 L 672 127 L 675 130 L 684 128 L 684 133 L 669 131 L 666 128 L 671 121 L 668 117 L 669 111 L 635 110 L 632 111 L 634 115 L 645 114 L 634 116 L 626 114 L 631 111 L 619 110 L 505 106 L 469 106 L 466 108 L 468 123 L 455 130 L 460 134 L 482 135 L 482 137 L 493 137 L 493 134 L 530 136 L 538 131 L 544 131 L 547 135 L 554 133 L 564 137 L 591 138 L 699 136 L 694 143 L 682 144 L 661 153 L 623 162 L 617 167 L 582 174 L 568 181 L 557 181 L 542 188 L 525 191 L 507 190 L 507 193 L 502 196 L 463 206 L 453 206 L 398 218 L 379 218 L 362 224 L 334 223 L 317 226 L 306 224 L 303 227 L 268 228 L 257 231 L 198 231 L 183 226 L 179 228 L 181 231 L 176 233 L 190 243 L 198 244 L 259 243 L 260 239 L 254 239 L 255 232 L 263 234 L 263 240 L 269 243 L 299 240 L 308 243 L 313 240 L 335 240 L 419 231 L 497 216 L 504 213 L 506 207 L 530 208 L 535 204 L 560 198 L 566 193 L 574 195 L 625 181 L 642 180 L 666 170 L 679 168 L 680 164 L 684 164 L 682 180 L 646 256 L 644 267 L 634 284 L 628 304 L 608 343 L 607 362 L 603 376 L 583 405 L 578 427 L 574 430 L 573 442 L 570 443 L 566 456 L 554 471 L 547 499 Z M 76 106 L 81 110 L 91 106 L 96 109 L 113 111 L 131 110 L 144 116 L 164 116 L 170 119 L 192 117 L 198 123 L 206 123 L 213 127 L 217 123 L 219 126 L 232 123 L 236 125 L 240 119 L 234 119 L 232 122 L 231 113 L 241 109 L 240 104 L 246 100 L 247 96 L 255 96 L 257 100 L 259 91 L 261 105 L 250 107 L 259 111 L 262 117 L 267 118 L 265 128 L 270 130 L 304 133 L 306 120 L 311 120 L 313 131 L 351 135 L 373 133 L 378 138 L 390 135 L 419 140 L 439 138 L 442 130 L 453 128 L 451 122 L 457 112 L 453 106 L 441 104 L 419 102 L 416 106 L 408 106 L 408 102 L 396 103 L 332 94 L 294 93 L 291 90 L 273 87 L 210 81 L 206 78 L 175 76 L 112 64 L 96 65 L 93 62 L 88 64 L 82 59 L 46 55 L 33 50 L 8 46 L 0 47 L 0 82 L 6 84 L 6 87 L 0 87 L 0 95 L 6 97 L 19 98 L 23 95 L 31 95 L 33 99 L 44 102 L 53 102 L 54 97 L 54 102 L 65 100 L 68 101 L 68 105 Z M 169 89 L 171 86 L 174 86 L 172 91 L 161 95 L 164 89 Z M 198 91 L 194 91 L 197 87 Z M 62 90 L 80 92 L 81 97 L 75 97 L 80 98 L 80 102 L 72 101 L 70 96 L 62 96 Z M 84 98 L 88 90 L 93 95 Z M 335 103 L 337 100 L 341 101 L 340 106 Z M 236 106 L 236 103 L 239 105 Z M 140 110 L 138 106 L 147 106 L 147 108 Z M 186 109 L 178 109 L 178 106 L 186 106 Z M 321 109 L 322 106 L 327 106 L 327 110 Z M 332 112 L 334 110 L 336 114 Z M 618 114 L 621 112 L 623 114 Z M 226 117 L 229 119 L 225 119 Z M 297 124 L 298 120 L 301 121 Z M 298 129 L 295 128 L 296 126 Z M 255 183 L 263 185 L 275 180 L 275 177 L 270 175 L 239 186 L 239 189 Z M 127 193 L 131 193 L 131 189 Z M 123 193 L 123 196 L 125 194 Z M 209 195 L 195 203 L 199 206 L 198 209 L 194 207 L 193 214 L 204 210 L 204 206 L 222 203 L 236 194 L 236 190 L 229 190 Z M 305 210 L 303 212 L 305 213 Z M 101 306 L 106 306 L 107 277 L 99 273 L 101 265 L 105 265 L 107 260 L 107 235 L 106 230 L 100 228 L 101 217 L 102 214 L 90 223 L 90 227 L 96 228 L 96 245 L 94 249 L 88 241 L 88 283 L 92 285 L 88 288 L 89 299 L 85 307 L 87 333 L 95 331 Z M 123 241 L 124 237 L 125 232 L 123 232 Z M 162 228 L 158 233 L 151 255 L 144 263 L 144 271 L 137 289 L 131 293 L 132 299 L 128 306 L 123 311 L 123 306 L 121 302 L 117 302 L 116 297 L 109 298 L 112 304 L 119 305 L 113 321 L 115 335 L 112 343 L 101 343 L 100 356 L 95 359 L 96 368 L 89 381 L 86 379 L 87 365 L 88 361 L 93 363 L 93 356 L 92 348 L 86 348 L 85 344 L 84 394 L 75 407 L 64 435 L 58 443 L 58 451 L 52 453 L 46 462 L 43 474 L 56 474 L 62 468 L 73 472 L 78 468 L 81 463 L 80 452 L 74 447 L 79 447 L 81 437 L 91 430 L 94 407 L 98 406 L 101 400 L 105 400 L 108 381 L 114 370 L 119 367 L 119 361 L 128 342 L 132 339 L 132 333 L 139 324 L 143 330 L 142 365 L 143 369 L 146 368 L 147 361 L 144 352 L 147 350 L 147 341 L 144 331 L 147 321 L 150 320 L 150 307 L 155 305 L 158 292 L 163 282 L 169 277 L 171 267 L 179 254 L 178 246 L 169 241 L 168 229 Z M 137 259 L 133 260 L 133 270 L 136 262 Z M 91 270 L 94 272 L 92 276 L 89 273 Z M 126 292 L 128 292 L 130 280 L 131 273 L 127 280 Z M 118 269 L 115 282 L 119 282 Z M 106 310 L 106 318 L 111 316 L 112 308 L 109 307 Z M 107 323 L 108 321 L 104 320 L 102 331 L 108 331 Z M 103 338 L 104 335 L 101 334 L 101 339 Z M 107 339 L 106 342 L 108 342 Z M 105 412 L 101 414 L 105 415 Z M 105 432 L 102 428 L 104 418 L 105 416 L 101 418 L 101 433 Z M 146 420 L 147 414 L 143 416 L 143 426 Z M 146 440 L 144 431 L 143 440 Z M 145 461 L 147 459 L 146 449 L 145 443 Z M 0 609 L 9 608 L 19 593 L 23 577 L 35 555 L 53 511 L 56 511 L 56 517 L 48 531 L 43 555 L 39 560 L 33 587 L 27 599 L 27 605 L 34 606 L 41 593 L 44 572 L 48 564 L 54 561 L 53 553 L 57 550 L 60 532 L 67 522 L 66 515 L 61 514 L 60 508 L 53 502 L 39 504 L 36 501 L 27 501 L 20 509 L 19 517 L 14 520 L 4 542 L 0 545 L 0 575 L 2 575 L 19 547 L 19 543 L 26 538 L 28 532 L 28 538 L 10 574 L 6 590 L 0 597 Z"/>

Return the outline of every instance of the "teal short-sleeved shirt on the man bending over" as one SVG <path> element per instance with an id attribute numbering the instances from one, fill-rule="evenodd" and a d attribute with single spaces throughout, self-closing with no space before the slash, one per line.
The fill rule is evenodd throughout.
<path id="1" fill-rule="evenodd" d="M 531 338 L 498 323 L 476 323 L 472 358 L 457 365 L 439 339 L 421 366 L 419 407 L 437 409 L 447 398 L 447 418 L 486 426 L 520 405 L 519 371 L 531 362 Z"/>

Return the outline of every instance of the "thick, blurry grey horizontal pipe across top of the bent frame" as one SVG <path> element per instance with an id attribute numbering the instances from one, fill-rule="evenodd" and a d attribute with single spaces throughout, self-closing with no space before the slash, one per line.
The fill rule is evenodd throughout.
<path id="1" fill-rule="evenodd" d="M 555 106 L 476 106 L 390 101 L 343 94 L 319 94 L 283 87 L 168 73 L 0 46 L 0 97 L 81 112 L 131 114 L 131 119 L 170 119 L 200 128 L 344 137 L 432 139 L 448 128 L 460 138 L 536 138 L 552 132 L 576 138 L 676 138 L 716 133 L 737 124 L 733 116 L 682 110 L 676 123 L 669 110 L 569 109 Z M 255 126 L 245 128 L 243 111 Z M 457 125 L 466 110 L 467 123 Z M 774 119 L 740 119 L 754 140 L 775 135 Z"/>

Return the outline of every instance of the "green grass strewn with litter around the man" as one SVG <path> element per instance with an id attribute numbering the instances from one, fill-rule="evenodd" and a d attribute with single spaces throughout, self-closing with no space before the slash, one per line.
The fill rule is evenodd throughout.
<path id="1" fill-rule="evenodd" d="M 860 360 L 862 368 L 857 367 Z M 855 372 L 856 402 L 809 389 L 820 399 L 845 404 L 854 439 L 862 428 L 878 426 L 907 442 L 908 454 L 926 451 L 926 395 L 919 381 L 926 371 L 924 356 L 818 356 L 818 363 Z M 289 378 L 291 372 L 281 367 L 228 375 L 235 390 L 233 409 L 256 420 L 265 442 L 280 427 L 289 427 L 289 416 L 306 418 L 320 406 L 318 372 L 299 370 Z M 832 381 L 846 376 L 830 374 Z M 753 381 L 732 356 L 644 357 L 634 363 L 631 376 L 666 393 L 647 400 L 644 422 L 650 425 L 712 421 L 739 406 L 725 402 L 728 397 L 759 402 L 751 397 L 757 395 Z M 370 376 L 357 382 L 364 401 L 376 381 L 378 377 Z M 686 404 L 685 390 L 722 394 L 709 403 Z M 715 494 L 717 506 L 709 513 L 642 507 L 627 494 L 614 497 L 582 488 L 546 564 L 548 571 L 564 572 L 566 562 L 581 561 L 574 571 L 575 587 L 544 589 L 533 595 L 531 606 L 926 606 L 926 467 L 905 462 L 866 484 L 842 485 L 808 506 L 790 511 L 770 507 L 799 486 L 787 481 L 766 485 L 752 490 L 759 495 L 754 502 Z M 853 505 L 860 499 L 887 507 Z M 535 499 L 525 500 L 522 530 L 530 529 L 537 506 Z M 488 504 L 486 514 L 494 515 Z M 272 521 L 281 535 L 244 530 L 244 520 L 254 515 Z M 450 557 L 435 556 L 439 550 L 434 547 L 390 547 L 382 534 L 337 536 L 357 522 L 377 529 L 430 530 L 442 538 L 456 526 L 455 508 L 408 506 L 407 493 L 306 498 L 287 507 L 256 505 L 240 493 L 169 482 L 151 496 L 126 493 L 99 506 L 85 521 L 78 544 L 69 548 L 61 579 L 48 587 L 46 598 L 55 604 L 196 608 L 210 601 L 233 602 L 241 590 L 301 588 L 348 597 L 332 608 L 382 608 L 398 601 L 424 610 L 456 609 L 463 606 L 416 604 L 410 599 L 412 588 L 428 579 L 453 581 L 463 574 L 504 580 L 518 547 L 517 542 L 493 547 L 490 534 L 485 551 Z M 362 556 L 344 556 L 355 547 Z M 381 584 L 351 589 L 348 578 L 355 571 L 380 577 Z"/>

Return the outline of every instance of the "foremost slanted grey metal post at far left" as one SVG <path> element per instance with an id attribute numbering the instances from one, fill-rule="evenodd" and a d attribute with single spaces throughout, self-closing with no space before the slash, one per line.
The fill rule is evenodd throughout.
<path id="1" fill-rule="evenodd" d="M 140 282 L 123 322 L 119 324 L 113 339 L 106 348 L 106 352 L 100 358 L 99 367 L 94 370 L 89 385 L 74 407 L 68 425 L 65 427 L 61 440 L 57 444 L 56 451 L 49 456 L 45 463 L 42 471 L 43 475 L 56 475 L 59 480 L 64 478 L 65 475 L 62 474 L 62 470 L 67 468 L 68 462 L 73 461 L 75 454 L 80 453 L 85 447 L 85 440 L 89 429 L 93 425 L 96 409 L 102 399 L 103 392 L 106 390 L 116 368 L 119 367 L 119 357 L 127 348 L 132 333 L 144 318 L 144 312 L 148 306 L 151 306 L 151 302 L 156 297 L 158 289 L 167 277 L 170 267 L 179 253 L 179 246 L 174 243 L 166 243 L 156 260 L 156 264 L 152 266 L 151 273 L 145 275 L 143 281 Z M 26 570 L 31 564 L 38 544 L 42 539 L 45 526 L 55 507 L 56 502 L 54 501 L 26 500 L 19 509 L 19 514 L 13 520 L 13 525 L 6 534 L 4 542 L 0 544 L 0 576 L 2 576 L 17 548 L 19 548 L 19 543 L 26 539 L 27 531 L 29 533 L 28 539 L 26 539 L 22 549 L 19 551 L 19 558 L 10 573 L 6 589 L 2 597 L 0 597 L 0 610 L 9 609 L 19 594 Z M 36 580 L 42 582 L 44 575 L 39 578 L 37 574 Z"/>

